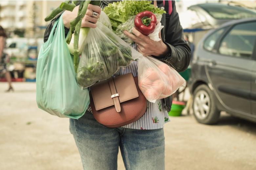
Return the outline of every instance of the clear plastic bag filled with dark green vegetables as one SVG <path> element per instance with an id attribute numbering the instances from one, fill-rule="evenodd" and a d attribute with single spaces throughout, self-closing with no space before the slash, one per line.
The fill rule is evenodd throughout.
<path id="1" fill-rule="evenodd" d="M 112 30 L 97 22 L 83 44 L 76 79 L 81 88 L 113 76 L 119 67 L 129 65 L 140 55 Z"/>

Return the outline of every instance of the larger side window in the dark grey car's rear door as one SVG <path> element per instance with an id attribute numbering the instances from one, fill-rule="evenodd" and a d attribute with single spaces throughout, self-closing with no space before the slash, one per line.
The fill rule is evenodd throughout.
<path id="1" fill-rule="evenodd" d="M 252 56 L 256 39 L 256 22 L 244 23 L 234 26 L 220 43 L 219 53 L 234 56 Z"/>

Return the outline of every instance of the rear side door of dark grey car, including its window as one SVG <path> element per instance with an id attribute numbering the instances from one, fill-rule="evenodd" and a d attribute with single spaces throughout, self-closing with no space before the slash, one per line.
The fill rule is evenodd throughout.
<path id="1" fill-rule="evenodd" d="M 217 98 L 229 111 L 251 114 L 252 52 L 256 22 L 236 24 L 211 53 L 205 69 Z"/>

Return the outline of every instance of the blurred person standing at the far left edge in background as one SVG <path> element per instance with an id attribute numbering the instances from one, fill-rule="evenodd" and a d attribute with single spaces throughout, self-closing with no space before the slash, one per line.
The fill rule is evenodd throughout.
<path id="1" fill-rule="evenodd" d="M 5 33 L 4 28 L 0 26 L 0 73 L 5 74 L 5 78 L 9 84 L 9 89 L 6 90 L 6 92 L 10 92 L 13 91 L 13 88 L 11 86 L 11 74 L 6 67 L 6 64 L 8 63 L 9 60 L 8 55 L 4 52 L 6 38 L 7 35 Z"/>

